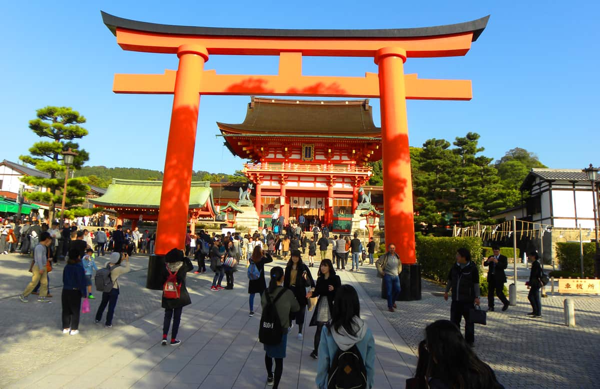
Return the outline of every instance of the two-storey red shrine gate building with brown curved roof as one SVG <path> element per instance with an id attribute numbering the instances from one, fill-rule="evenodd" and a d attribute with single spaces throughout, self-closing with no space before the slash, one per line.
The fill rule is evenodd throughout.
<path id="1" fill-rule="evenodd" d="M 245 176 L 256 191 L 260 225 L 275 210 L 285 223 L 319 218 L 350 232 L 367 162 L 381 156 L 381 129 L 368 99 L 289 100 L 251 97 L 243 123 L 217 123 L 225 145 L 250 161 Z"/>

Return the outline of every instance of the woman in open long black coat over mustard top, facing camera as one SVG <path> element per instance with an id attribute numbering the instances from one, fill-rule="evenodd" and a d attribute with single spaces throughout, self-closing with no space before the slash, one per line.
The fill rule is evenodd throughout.
<path id="1" fill-rule="evenodd" d="M 287 263 L 283 286 L 293 292 L 296 300 L 298 300 L 298 304 L 300 304 L 300 309 L 298 312 L 293 312 L 290 314 L 289 330 L 292 330 L 294 325 L 293 319 L 296 319 L 296 324 L 298 325 L 298 339 L 302 340 L 302 327 L 304 327 L 304 316 L 306 313 L 306 306 L 308 304 L 308 299 L 306 298 L 306 288 L 314 288 L 315 285 L 313 275 L 311 275 L 308 266 L 302 262 L 300 251 L 297 249 L 292 251 L 292 257 Z"/>

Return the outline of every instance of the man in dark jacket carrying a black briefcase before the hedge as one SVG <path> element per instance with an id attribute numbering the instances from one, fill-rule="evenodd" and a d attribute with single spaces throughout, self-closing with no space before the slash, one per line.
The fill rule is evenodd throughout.
<path id="1" fill-rule="evenodd" d="M 464 317 L 464 340 L 467 344 L 475 342 L 475 324 L 469 320 L 469 310 L 479 305 L 479 269 L 471 262 L 471 253 L 460 248 L 456 253 L 456 264 L 448 273 L 448 285 L 444 300 L 448 300 L 448 291 L 452 290 L 450 321 L 460 328 L 461 316 Z"/>

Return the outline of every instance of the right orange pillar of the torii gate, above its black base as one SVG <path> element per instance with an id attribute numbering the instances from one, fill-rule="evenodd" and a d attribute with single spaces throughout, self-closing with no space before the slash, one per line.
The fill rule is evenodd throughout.
<path id="1" fill-rule="evenodd" d="M 377 50 L 383 156 L 385 242 L 395 243 L 402 263 L 416 263 L 410 150 L 406 118 L 404 62 L 406 50 Z"/>

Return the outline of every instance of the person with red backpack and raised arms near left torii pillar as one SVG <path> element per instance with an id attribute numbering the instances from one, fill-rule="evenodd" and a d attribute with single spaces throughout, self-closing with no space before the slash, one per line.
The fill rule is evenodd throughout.
<path id="1" fill-rule="evenodd" d="M 173 328 L 171 328 L 171 345 L 176 346 L 181 343 L 177 339 L 179 331 L 179 321 L 181 321 L 181 311 L 184 306 L 191 304 L 190 294 L 185 288 L 185 276 L 187 272 L 194 269 L 190 258 L 185 257 L 184 252 L 178 249 L 172 249 L 164 257 L 165 267 L 163 269 L 163 298 L 162 307 L 164 308 L 163 321 L 163 340 L 161 344 L 167 344 L 167 334 L 173 319 Z M 173 279 L 175 278 L 175 279 Z"/>

